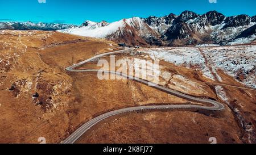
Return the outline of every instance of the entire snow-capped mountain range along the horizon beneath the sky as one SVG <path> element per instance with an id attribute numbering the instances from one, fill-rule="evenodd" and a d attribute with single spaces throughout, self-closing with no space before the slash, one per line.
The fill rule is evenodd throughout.
<path id="1" fill-rule="evenodd" d="M 217 11 L 199 15 L 192 11 L 183 11 L 180 15 L 134 17 L 113 23 L 86 20 L 80 26 L 0 22 L 0 30 L 58 30 L 127 45 L 226 45 L 256 42 L 255 24 L 256 16 L 225 16 Z"/>

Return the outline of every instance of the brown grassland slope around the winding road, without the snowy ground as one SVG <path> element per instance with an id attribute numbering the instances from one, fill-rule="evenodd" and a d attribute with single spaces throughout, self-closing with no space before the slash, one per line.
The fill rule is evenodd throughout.
<path id="1" fill-rule="evenodd" d="M 144 104 L 188 103 L 131 80 L 102 81 L 97 73 L 65 70 L 98 53 L 117 50 L 112 45 L 116 44 L 60 32 L 0 31 L 0 143 L 39 143 L 39 137 L 45 137 L 46 143 L 60 143 L 81 124 L 111 110 Z M 174 75 L 171 82 L 187 85 L 188 90 L 164 78 L 163 85 L 224 103 L 217 97 L 214 84 L 206 83 L 209 81 L 200 72 L 167 62 L 160 65 L 163 71 Z M 195 85 L 175 75 L 191 79 Z M 241 116 L 255 133 L 255 91 L 245 93 L 234 87 L 224 88 L 230 98 L 236 98 L 235 106 L 244 104 L 245 110 L 240 107 Z M 173 110 L 114 116 L 90 129 L 77 143 L 208 143 L 208 137 L 212 136 L 220 143 L 249 143 L 245 133 L 232 106 L 225 104 L 221 112 Z M 255 135 L 249 136 L 255 140 Z"/>

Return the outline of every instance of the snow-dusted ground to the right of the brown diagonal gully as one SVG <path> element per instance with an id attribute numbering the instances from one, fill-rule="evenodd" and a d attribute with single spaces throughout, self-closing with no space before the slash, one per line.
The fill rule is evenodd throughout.
<path id="1" fill-rule="evenodd" d="M 238 82 L 256 89 L 256 46 L 241 45 L 201 48 L 208 57 L 213 71 L 221 69 Z M 243 79 L 238 80 L 242 75 Z"/>

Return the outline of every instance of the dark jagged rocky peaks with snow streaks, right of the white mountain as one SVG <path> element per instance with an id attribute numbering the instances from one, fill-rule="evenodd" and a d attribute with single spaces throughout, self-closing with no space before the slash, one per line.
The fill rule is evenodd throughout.
<path id="1" fill-rule="evenodd" d="M 247 15 L 226 17 L 217 11 L 184 11 L 161 37 L 167 45 L 228 44 L 255 22 Z"/>

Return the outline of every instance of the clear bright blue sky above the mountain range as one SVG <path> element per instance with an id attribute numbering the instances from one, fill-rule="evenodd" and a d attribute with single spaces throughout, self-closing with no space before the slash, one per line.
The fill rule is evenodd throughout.
<path id="1" fill-rule="evenodd" d="M 46 1 L 39 3 L 38 1 Z M 214 0 L 210 0 L 214 1 Z M 163 16 L 191 10 L 216 10 L 226 16 L 256 15 L 255 0 L 1 0 L 0 21 L 81 24 L 85 20 L 114 22 L 133 16 Z"/>

